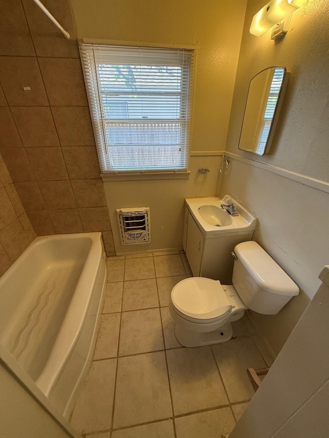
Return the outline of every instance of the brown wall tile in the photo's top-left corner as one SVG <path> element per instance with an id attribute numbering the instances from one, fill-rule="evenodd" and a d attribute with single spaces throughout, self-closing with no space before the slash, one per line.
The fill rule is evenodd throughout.
<path id="1" fill-rule="evenodd" d="M 0 55 L 35 55 L 20 0 L 11 0 L 1 4 Z"/>

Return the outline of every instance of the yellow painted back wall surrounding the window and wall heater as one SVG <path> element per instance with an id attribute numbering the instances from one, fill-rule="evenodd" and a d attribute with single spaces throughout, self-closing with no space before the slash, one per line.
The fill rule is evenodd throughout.
<path id="1" fill-rule="evenodd" d="M 196 45 L 192 151 L 225 148 L 245 0 L 71 0 L 78 37 L 133 43 Z M 193 161 L 192 161 L 193 160 Z M 218 157 L 193 157 L 187 181 L 104 183 L 116 252 L 181 246 L 188 196 L 217 193 Z M 206 178 L 197 169 L 209 167 Z M 119 244 L 115 210 L 150 206 L 152 244 Z"/>

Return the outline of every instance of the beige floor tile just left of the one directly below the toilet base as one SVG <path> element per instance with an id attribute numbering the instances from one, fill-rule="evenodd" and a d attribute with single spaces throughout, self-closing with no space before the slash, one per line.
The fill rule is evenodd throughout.
<path id="1" fill-rule="evenodd" d="M 163 351 L 120 357 L 113 427 L 164 420 L 172 416 Z"/>

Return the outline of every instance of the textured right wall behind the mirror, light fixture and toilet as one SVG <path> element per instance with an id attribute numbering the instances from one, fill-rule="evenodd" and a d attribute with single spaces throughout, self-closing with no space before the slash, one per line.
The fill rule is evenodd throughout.
<path id="1" fill-rule="evenodd" d="M 264 2 L 248 1 L 226 150 L 249 161 L 233 156 L 220 190 L 222 195 L 236 196 L 255 213 L 259 224 L 253 238 L 301 289 L 278 315 L 253 313 L 275 353 L 314 296 L 320 284 L 318 274 L 329 260 L 329 194 L 255 165 L 261 162 L 329 181 L 329 12 L 324 0 L 297 3 L 301 8 L 291 16 L 288 33 L 273 42 L 270 31 L 260 37 L 249 33 L 252 16 Z M 272 65 L 285 66 L 290 80 L 270 154 L 259 157 L 237 145 L 249 81 Z"/>

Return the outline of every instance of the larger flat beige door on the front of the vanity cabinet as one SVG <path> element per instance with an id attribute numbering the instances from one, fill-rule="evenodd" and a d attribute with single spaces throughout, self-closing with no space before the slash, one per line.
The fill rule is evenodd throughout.
<path id="1" fill-rule="evenodd" d="M 200 275 L 200 266 L 204 247 L 204 236 L 200 232 L 191 213 L 189 213 L 189 222 L 186 241 L 186 257 L 194 277 Z"/>

